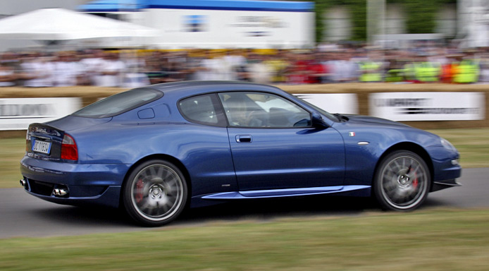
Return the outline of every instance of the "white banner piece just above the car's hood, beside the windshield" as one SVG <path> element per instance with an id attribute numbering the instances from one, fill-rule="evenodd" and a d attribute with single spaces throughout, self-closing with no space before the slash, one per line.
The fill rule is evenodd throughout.
<path id="1" fill-rule="evenodd" d="M 295 94 L 330 113 L 359 114 L 357 95 L 353 93 Z"/>

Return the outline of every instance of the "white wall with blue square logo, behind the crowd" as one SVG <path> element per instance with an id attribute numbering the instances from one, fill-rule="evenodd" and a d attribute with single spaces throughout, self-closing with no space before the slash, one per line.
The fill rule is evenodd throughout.
<path id="1" fill-rule="evenodd" d="M 163 49 L 314 46 L 314 12 L 149 8 L 143 14 L 144 25 L 163 31 L 151 38 L 151 46 Z"/>

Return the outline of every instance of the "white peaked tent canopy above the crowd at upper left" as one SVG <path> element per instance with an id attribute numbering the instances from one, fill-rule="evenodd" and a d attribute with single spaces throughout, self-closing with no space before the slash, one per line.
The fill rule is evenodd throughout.
<path id="1" fill-rule="evenodd" d="M 156 37 L 159 30 L 63 8 L 45 8 L 0 20 L 0 39 L 80 40 L 97 37 Z"/>

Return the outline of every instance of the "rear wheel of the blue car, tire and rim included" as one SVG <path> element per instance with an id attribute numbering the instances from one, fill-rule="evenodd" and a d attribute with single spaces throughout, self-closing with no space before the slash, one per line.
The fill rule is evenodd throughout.
<path id="1" fill-rule="evenodd" d="M 133 169 L 123 186 L 125 211 L 136 222 L 158 227 L 172 222 L 187 203 L 187 182 L 178 167 L 154 159 Z"/>

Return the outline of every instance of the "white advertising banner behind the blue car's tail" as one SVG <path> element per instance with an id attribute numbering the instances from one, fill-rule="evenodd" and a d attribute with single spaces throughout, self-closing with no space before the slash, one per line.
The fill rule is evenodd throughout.
<path id="1" fill-rule="evenodd" d="M 80 98 L 0 99 L 0 130 L 26 130 L 34 122 L 59 119 L 81 108 Z"/>

